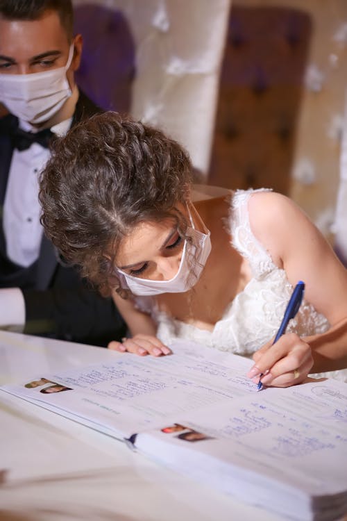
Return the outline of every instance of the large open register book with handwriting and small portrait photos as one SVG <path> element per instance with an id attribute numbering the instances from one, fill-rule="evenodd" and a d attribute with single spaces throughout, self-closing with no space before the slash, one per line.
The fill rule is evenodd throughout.
<path id="1" fill-rule="evenodd" d="M 28 375 L 1 391 L 283 518 L 347 513 L 346 383 L 257 392 L 245 377 L 252 361 L 189 342 L 171 347 L 160 358 L 103 361 L 101 352 L 98 365 Z"/>

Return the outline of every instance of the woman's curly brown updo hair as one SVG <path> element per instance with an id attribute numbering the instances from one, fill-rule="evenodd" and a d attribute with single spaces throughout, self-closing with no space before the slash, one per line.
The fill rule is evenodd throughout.
<path id="1" fill-rule="evenodd" d="M 52 145 L 40 176 L 41 222 L 62 256 L 103 295 L 119 287 L 121 240 L 140 222 L 174 219 L 184 235 L 192 164 L 178 142 L 130 117 L 106 112 Z M 110 260 L 108 260 L 108 258 Z"/>

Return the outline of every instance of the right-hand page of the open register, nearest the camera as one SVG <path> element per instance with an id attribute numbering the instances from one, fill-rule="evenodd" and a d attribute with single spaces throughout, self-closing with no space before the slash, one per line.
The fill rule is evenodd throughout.
<path id="1" fill-rule="evenodd" d="M 135 445 L 189 474 L 205 473 L 229 492 L 235 490 L 235 475 L 259 481 L 260 489 L 271 483 L 270 490 L 296 489 L 309 497 L 347 490 L 346 383 L 325 379 L 265 388 L 177 415 L 174 425 L 182 428 L 170 431 L 162 424 L 139 434 Z M 346 506 L 346 494 L 342 500 Z"/>

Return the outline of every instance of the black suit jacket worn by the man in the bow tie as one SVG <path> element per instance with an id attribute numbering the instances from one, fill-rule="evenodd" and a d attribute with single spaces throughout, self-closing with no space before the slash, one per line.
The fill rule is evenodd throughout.
<path id="1" fill-rule="evenodd" d="M 80 92 L 72 125 L 100 111 Z M 26 306 L 24 333 L 94 345 L 119 340 L 126 325 L 112 299 L 101 297 L 87 286 L 77 270 L 61 263 L 45 236 L 40 256 L 31 267 L 13 265 L 7 258 L 2 208 L 12 152 L 8 135 L 0 135 L 0 288 L 22 289 Z"/>

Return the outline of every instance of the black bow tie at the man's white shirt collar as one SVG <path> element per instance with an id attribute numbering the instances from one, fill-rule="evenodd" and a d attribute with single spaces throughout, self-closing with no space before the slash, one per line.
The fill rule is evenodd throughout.
<path id="1" fill-rule="evenodd" d="M 39 143 L 42 147 L 48 148 L 54 136 L 49 129 L 36 133 L 19 129 L 17 118 L 13 119 L 8 116 L 2 118 L 0 134 L 10 136 L 13 147 L 19 151 L 28 149 L 33 143 Z"/>

